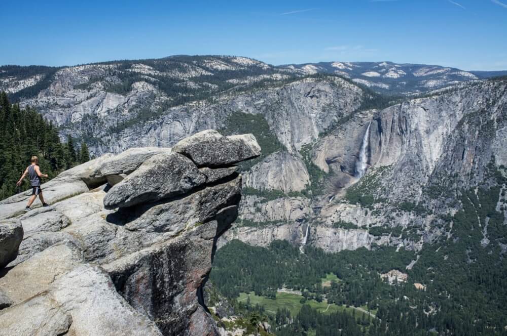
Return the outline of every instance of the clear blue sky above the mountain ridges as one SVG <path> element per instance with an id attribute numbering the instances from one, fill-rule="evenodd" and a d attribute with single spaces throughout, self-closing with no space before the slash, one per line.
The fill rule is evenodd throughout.
<path id="1" fill-rule="evenodd" d="M 0 64 L 213 54 L 507 69 L 507 0 L 6 0 L 0 29 Z"/>

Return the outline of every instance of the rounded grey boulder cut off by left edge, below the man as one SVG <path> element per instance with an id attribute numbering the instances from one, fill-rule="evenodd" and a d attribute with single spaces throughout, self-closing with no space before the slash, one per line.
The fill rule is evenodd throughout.
<path id="1" fill-rule="evenodd" d="M 0 268 L 18 256 L 18 248 L 23 239 L 23 227 L 17 219 L 0 222 Z"/>

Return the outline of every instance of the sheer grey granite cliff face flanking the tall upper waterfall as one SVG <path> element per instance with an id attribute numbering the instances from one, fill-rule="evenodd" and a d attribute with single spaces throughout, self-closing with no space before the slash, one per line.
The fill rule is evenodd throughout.
<path id="1" fill-rule="evenodd" d="M 486 81 L 453 92 L 413 99 L 384 110 L 367 111 L 323 137 L 313 160 L 322 170 L 350 175 L 367 124 L 368 165 L 388 167 L 383 197 L 419 199 L 428 184 L 458 174 L 451 187 L 478 183 L 491 157 L 504 164 L 505 81 Z M 467 179 L 478 169 L 475 179 Z M 331 192 L 331 190 L 330 190 Z"/>

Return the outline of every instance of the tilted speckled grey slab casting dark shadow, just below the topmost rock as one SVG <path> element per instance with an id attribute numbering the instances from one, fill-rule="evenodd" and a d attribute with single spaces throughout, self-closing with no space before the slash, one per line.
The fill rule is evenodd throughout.
<path id="1" fill-rule="evenodd" d="M 189 158 L 178 153 L 161 153 L 112 187 L 104 197 L 104 206 L 114 209 L 155 202 L 187 193 L 205 182 L 206 176 Z"/>

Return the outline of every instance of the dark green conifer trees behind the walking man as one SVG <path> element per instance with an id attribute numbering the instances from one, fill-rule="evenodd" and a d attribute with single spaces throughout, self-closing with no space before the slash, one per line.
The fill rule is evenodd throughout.
<path id="1" fill-rule="evenodd" d="M 86 143 L 76 146 L 71 136 L 62 143 L 58 129 L 37 110 L 11 104 L 7 94 L 0 93 L 0 199 L 30 188 L 26 179 L 20 187 L 16 182 L 33 155 L 49 179 L 90 160 Z"/>

